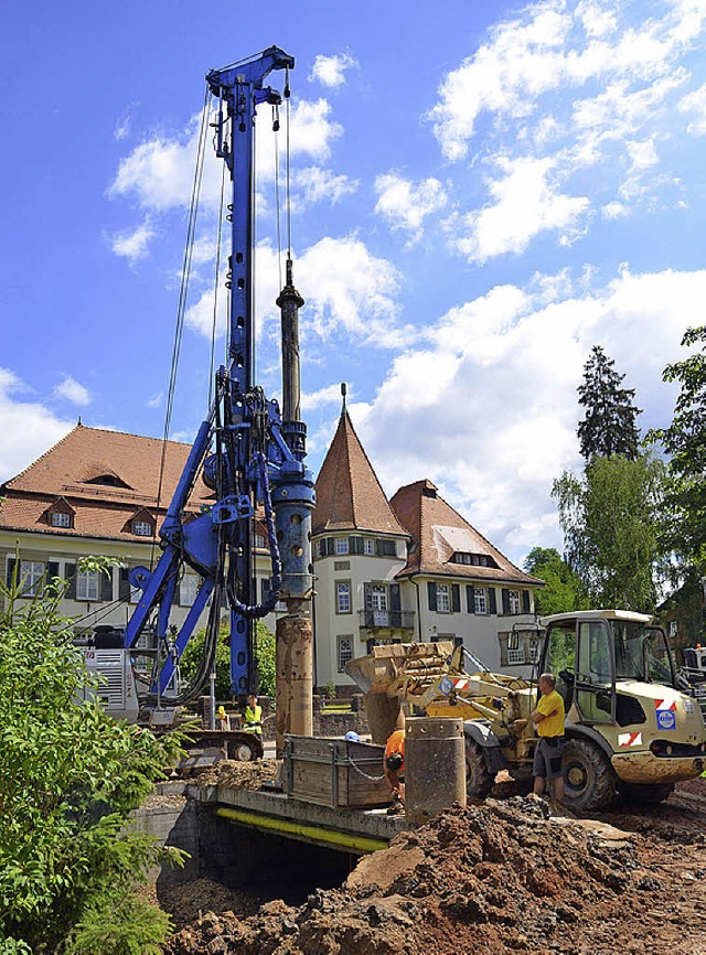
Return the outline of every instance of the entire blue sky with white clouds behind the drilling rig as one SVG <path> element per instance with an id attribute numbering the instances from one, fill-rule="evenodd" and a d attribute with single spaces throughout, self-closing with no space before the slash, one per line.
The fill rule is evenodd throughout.
<path id="1" fill-rule="evenodd" d="M 591 347 L 637 389 L 641 426 L 664 425 L 674 390 L 662 369 L 704 321 L 706 2 L 429 11 L 2 6 L 0 480 L 78 416 L 161 436 L 204 75 L 277 44 L 297 61 L 292 248 L 311 466 L 345 380 L 388 494 L 429 478 L 511 558 L 560 547 L 549 492 L 580 466 L 576 388 Z M 269 126 L 264 110 L 257 377 L 277 396 Z M 178 440 L 207 401 L 220 176 L 210 155 Z"/>

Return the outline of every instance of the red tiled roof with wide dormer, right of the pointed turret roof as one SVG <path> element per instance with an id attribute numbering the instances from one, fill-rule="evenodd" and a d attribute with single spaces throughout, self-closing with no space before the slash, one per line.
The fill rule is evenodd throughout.
<path id="1" fill-rule="evenodd" d="M 389 503 L 413 541 L 407 565 L 398 577 L 436 573 L 542 586 L 541 580 L 515 567 L 458 511 L 439 497 L 431 481 L 416 481 L 400 487 Z M 496 567 L 452 562 L 456 552 L 486 555 Z"/>

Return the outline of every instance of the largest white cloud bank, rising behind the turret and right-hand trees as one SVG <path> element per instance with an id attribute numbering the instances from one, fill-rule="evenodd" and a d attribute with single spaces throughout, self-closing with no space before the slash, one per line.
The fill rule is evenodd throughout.
<path id="1" fill-rule="evenodd" d="M 561 546 L 549 492 L 580 464 L 576 388 L 590 348 L 603 346 L 637 389 L 642 427 L 668 423 L 675 389 L 662 371 L 703 321 L 706 270 L 625 268 L 548 303 L 547 286 L 561 287 L 535 277 L 532 289 L 499 286 L 452 309 L 422 348 L 395 358 L 373 401 L 351 408 L 389 494 L 430 478 L 516 560 L 538 544 Z"/>

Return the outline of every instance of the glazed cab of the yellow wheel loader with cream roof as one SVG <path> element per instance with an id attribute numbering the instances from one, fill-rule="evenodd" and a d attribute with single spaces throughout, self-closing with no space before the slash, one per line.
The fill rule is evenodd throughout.
<path id="1" fill-rule="evenodd" d="M 575 706 L 580 722 L 616 722 L 617 684 L 676 688 L 665 633 L 645 614 L 592 610 L 557 614 L 543 623 L 539 673 L 555 675 L 567 712 Z"/>

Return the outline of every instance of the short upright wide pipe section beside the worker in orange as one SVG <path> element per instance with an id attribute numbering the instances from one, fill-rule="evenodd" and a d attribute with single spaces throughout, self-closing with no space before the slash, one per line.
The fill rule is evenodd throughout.
<path id="1" fill-rule="evenodd" d="M 466 806 L 463 720 L 411 717 L 405 725 L 405 813 L 422 825 L 453 803 Z"/>

